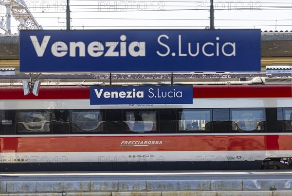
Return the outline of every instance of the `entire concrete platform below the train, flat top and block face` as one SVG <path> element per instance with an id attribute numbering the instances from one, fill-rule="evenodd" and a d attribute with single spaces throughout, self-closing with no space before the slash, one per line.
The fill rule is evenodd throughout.
<path id="1" fill-rule="evenodd" d="M 2 172 L 0 196 L 292 196 L 292 171 Z"/>

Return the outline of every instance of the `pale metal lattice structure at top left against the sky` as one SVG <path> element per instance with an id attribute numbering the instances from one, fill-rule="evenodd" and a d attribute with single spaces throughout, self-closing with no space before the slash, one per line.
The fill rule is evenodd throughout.
<path id="1" fill-rule="evenodd" d="M 0 25 L 0 28 L 3 29 L 6 33 L 11 33 L 11 15 L 19 21 L 19 30 L 40 30 L 42 27 L 38 25 L 36 19 L 30 13 L 27 8 L 24 0 L 0 0 L 0 5 L 6 7 L 6 27 Z"/>

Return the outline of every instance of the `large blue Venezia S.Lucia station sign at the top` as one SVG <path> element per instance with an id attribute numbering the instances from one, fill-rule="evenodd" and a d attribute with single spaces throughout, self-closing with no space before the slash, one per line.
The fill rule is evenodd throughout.
<path id="1" fill-rule="evenodd" d="M 21 30 L 20 71 L 260 71 L 260 46 L 260 30 Z"/>

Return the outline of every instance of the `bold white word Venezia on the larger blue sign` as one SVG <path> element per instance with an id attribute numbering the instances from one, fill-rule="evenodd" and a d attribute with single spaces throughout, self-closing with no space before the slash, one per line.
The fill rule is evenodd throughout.
<path id="1" fill-rule="evenodd" d="M 45 35 L 41 44 L 37 40 L 37 36 L 30 36 L 34 49 L 38 57 L 43 57 L 51 36 Z M 105 42 L 105 46 L 98 41 L 88 44 L 87 53 L 92 57 L 100 57 L 105 53 L 105 57 L 127 56 L 127 39 L 126 35 L 121 35 L 121 42 Z M 118 50 L 118 46 L 120 46 Z M 79 50 L 79 57 L 86 56 L 86 45 L 84 42 L 69 42 L 70 57 L 76 57 L 76 49 Z M 68 45 L 62 41 L 56 41 L 52 44 L 51 52 L 55 57 L 63 57 L 68 53 Z M 133 41 L 128 45 L 128 53 L 132 57 L 146 56 L 146 43 Z"/>

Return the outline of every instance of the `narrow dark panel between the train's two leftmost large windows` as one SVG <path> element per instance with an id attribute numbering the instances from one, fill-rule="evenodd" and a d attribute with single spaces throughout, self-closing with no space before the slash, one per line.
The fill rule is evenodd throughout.
<path id="1" fill-rule="evenodd" d="M 69 110 L 54 110 L 52 116 L 53 134 L 69 134 Z"/>

